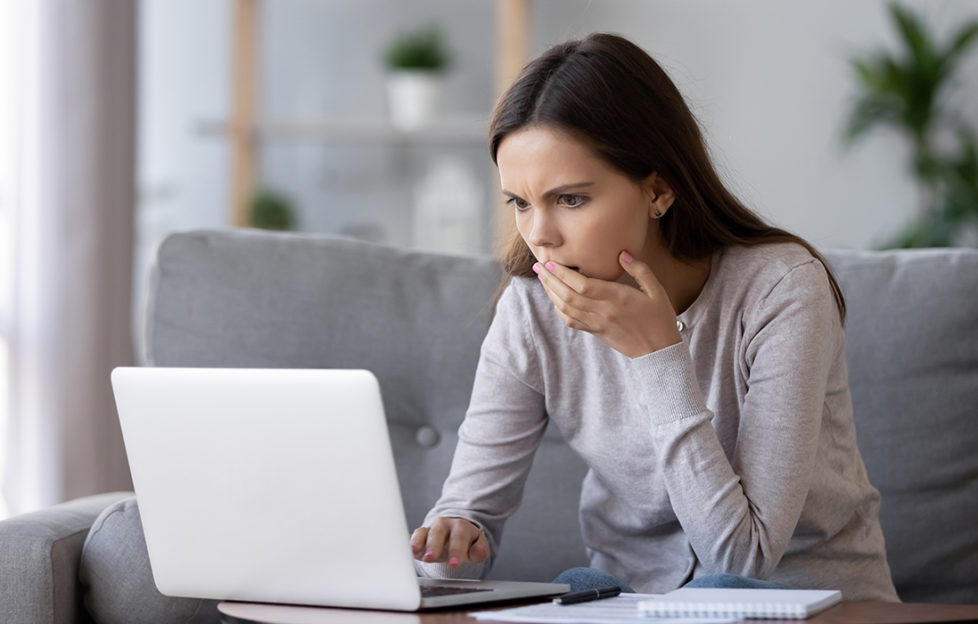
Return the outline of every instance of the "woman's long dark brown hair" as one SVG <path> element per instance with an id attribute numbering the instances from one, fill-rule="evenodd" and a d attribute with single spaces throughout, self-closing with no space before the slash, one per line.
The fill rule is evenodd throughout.
<path id="1" fill-rule="evenodd" d="M 636 182 L 652 173 L 665 179 L 675 200 L 659 224 L 666 248 L 678 260 L 699 260 L 731 245 L 805 247 L 825 266 L 845 320 L 842 290 L 822 255 L 804 239 L 765 223 L 727 190 L 676 85 L 637 45 L 596 33 L 555 45 L 531 61 L 492 113 L 492 161 L 507 135 L 530 125 L 570 133 Z M 503 254 L 505 280 L 532 277 L 534 262 L 516 234 Z"/>

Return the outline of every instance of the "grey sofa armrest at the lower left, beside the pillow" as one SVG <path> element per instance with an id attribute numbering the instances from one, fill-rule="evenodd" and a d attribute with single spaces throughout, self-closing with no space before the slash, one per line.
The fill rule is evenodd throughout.
<path id="1" fill-rule="evenodd" d="M 0 621 L 89 622 L 79 595 L 82 545 L 99 513 L 129 496 L 88 496 L 0 522 Z"/>

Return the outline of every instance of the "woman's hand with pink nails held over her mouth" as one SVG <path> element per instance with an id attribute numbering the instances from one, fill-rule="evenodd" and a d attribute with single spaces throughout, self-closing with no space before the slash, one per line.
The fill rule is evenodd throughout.
<path id="1" fill-rule="evenodd" d="M 586 277 L 556 262 L 533 269 L 568 327 L 594 334 L 630 358 L 682 342 L 672 302 L 649 265 L 624 251 L 618 262 L 639 288 Z"/>

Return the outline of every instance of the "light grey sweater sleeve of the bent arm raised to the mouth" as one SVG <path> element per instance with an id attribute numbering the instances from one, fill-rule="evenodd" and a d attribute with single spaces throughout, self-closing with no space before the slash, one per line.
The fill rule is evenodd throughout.
<path id="1" fill-rule="evenodd" d="M 658 469 L 707 573 L 767 578 L 801 515 L 841 324 L 821 263 L 789 269 L 744 311 L 747 373 L 727 459 L 685 343 L 634 361 Z"/>

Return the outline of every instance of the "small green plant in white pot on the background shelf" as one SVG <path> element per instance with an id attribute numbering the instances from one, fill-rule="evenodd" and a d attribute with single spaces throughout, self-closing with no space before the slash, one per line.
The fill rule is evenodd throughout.
<path id="1" fill-rule="evenodd" d="M 399 34 L 387 46 L 388 111 L 395 127 L 415 130 L 435 118 L 450 55 L 437 26 Z"/>

